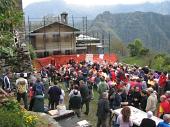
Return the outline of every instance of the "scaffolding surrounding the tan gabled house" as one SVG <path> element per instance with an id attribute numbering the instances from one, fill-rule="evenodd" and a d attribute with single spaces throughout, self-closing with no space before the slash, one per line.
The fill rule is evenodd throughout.
<path id="1" fill-rule="evenodd" d="M 66 23 L 63 23 L 63 21 L 66 21 Z M 54 30 L 49 31 L 47 29 L 47 26 L 55 22 L 57 22 L 57 24 L 55 25 L 55 28 L 53 26 L 52 29 Z M 72 28 L 73 30 L 63 31 L 64 26 Z M 39 29 L 41 29 L 41 32 L 38 31 Z M 80 31 L 75 31 L 74 29 L 78 29 Z M 109 49 L 107 50 L 107 52 L 110 53 L 110 34 L 109 34 L 109 39 L 106 39 L 105 37 L 106 33 L 102 35 L 100 35 L 98 32 L 90 33 L 88 29 L 89 29 L 89 26 L 88 26 L 87 16 L 86 17 L 74 17 L 74 16 L 69 17 L 68 16 L 67 20 L 63 20 L 61 16 L 43 17 L 41 19 L 28 17 L 27 22 L 25 23 L 25 31 L 26 31 L 27 40 L 29 41 L 29 43 L 33 45 L 37 54 L 41 54 L 40 56 L 38 55 L 38 57 L 41 57 L 41 56 L 44 57 L 48 55 L 77 53 L 78 48 L 76 47 L 77 42 L 75 38 L 80 34 L 84 35 L 84 37 L 88 35 L 94 38 L 99 38 L 101 41 L 100 43 L 102 43 L 102 45 L 98 47 L 100 48 L 98 53 L 104 54 L 106 51 L 106 47 L 108 46 L 109 46 Z M 43 45 L 39 46 L 41 47 L 41 50 L 38 49 L 37 46 L 33 43 L 33 40 L 35 39 L 36 36 L 42 36 L 43 38 Z M 49 36 L 51 37 L 50 39 L 49 39 Z M 89 43 L 90 43 L 90 46 L 89 46 Z M 86 49 L 84 47 L 83 48 L 84 52 L 81 52 L 81 53 L 85 53 L 85 54 L 94 53 L 92 49 L 93 44 L 91 43 L 91 41 L 89 41 L 89 43 L 85 45 Z M 89 49 L 87 49 L 87 47 Z M 80 47 L 79 47 L 79 50 L 81 50 Z"/>

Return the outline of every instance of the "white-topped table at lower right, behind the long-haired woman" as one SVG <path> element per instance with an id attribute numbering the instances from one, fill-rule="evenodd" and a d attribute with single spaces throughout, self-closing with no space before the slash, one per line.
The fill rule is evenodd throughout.
<path id="1" fill-rule="evenodd" d="M 147 113 L 133 106 L 128 106 L 128 107 L 131 109 L 131 118 L 132 118 L 133 123 L 137 126 L 140 126 L 140 123 L 142 122 L 143 118 L 147 118 Z M 121 110 L 122 108 L 116 109 L 116 110 L 113 110 L 112 113 L 119 115 Z M 159 122 L 163 121 L 162 119 L 156 116 L 153 116 L 151 119 L 156 122 L 156 125 L 158 125 Z"/>

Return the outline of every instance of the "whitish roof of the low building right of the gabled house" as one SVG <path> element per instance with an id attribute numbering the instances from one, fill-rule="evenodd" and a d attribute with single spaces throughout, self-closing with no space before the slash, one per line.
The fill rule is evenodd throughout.
<path id="1" fill-rule="evenodd" d="M 76 40 L 77 41 L 99 41 L 100 39 L 80 34 L 78 37 L 76 37 Z"/>

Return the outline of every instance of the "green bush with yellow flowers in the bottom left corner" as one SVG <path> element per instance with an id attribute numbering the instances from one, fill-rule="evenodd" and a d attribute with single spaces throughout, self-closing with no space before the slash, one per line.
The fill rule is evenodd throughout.
<path id="1" fill-rule="evenodd" d="M 8 100 L 0 107 L 1 127 L 36 127 L 38 117 L 26 112 L 16 100 Z"/>

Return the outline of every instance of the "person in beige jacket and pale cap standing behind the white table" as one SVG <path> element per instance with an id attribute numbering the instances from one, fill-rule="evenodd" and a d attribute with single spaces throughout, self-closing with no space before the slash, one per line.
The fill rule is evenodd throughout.
<path id="1" fill-rule="evenodd" d="M 157 96 L 155 95 L 153 91 L 154 90 L 151 87 L 147 89 L 147 93 L 149 97 L 148 97 L 147 104 L 146 104 L 146 112 L 152 111 L 153 113 L 155 113 L 156 111 L 156 105 L 158 103 L 158 100 L 157 100 Z"/>

